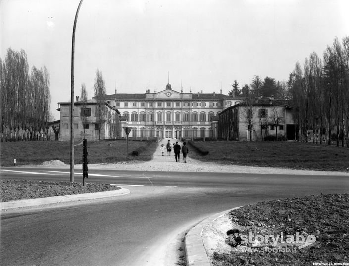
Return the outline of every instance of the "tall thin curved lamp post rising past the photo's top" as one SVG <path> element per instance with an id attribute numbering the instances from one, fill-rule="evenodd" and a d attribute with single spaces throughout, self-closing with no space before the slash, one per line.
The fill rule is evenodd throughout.
<path id="1" fill-rule="evenodd" d="M 74 128 L 73 128 L 73 111 L 74 111 L 74 46 L 75 46 L 75 28 L 78 20 L 78 14 L 80 6 L 83 0 L 80 0 L 78 9 L 76 10 L 74 26 L 73 26 L 73 38 L 71 45 L 71 94 L 70 94 L 70 182 L 74 182 Z"/>

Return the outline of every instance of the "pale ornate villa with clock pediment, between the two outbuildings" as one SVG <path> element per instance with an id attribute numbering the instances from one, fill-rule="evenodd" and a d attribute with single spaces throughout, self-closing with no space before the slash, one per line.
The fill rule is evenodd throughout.
<path id="1" fill-rule="evenodd" d="M 213 137 L 212 118 L 242 98 L 222 93 L 183 93 L 166 89 L 142 94 L 106 95 L 106 103 L 114 106 L 131 127 L 130 137 L 204 138 Z M 124 137 L 124 132 L 121 133 Z"/>

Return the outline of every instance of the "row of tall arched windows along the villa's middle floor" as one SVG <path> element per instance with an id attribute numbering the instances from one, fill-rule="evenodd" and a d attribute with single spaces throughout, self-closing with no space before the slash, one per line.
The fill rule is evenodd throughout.
<path id="1" fill-rule="evenodd" d="M 131 120 L 130 120 L 130 114 L 128 112 L 124 112 L 122 116 L 127 117 L 127 120 L 131 122 L 154 122 L 154 114 L 153 113 L 131 113 Z M 200 114 L 198 113 L 184 113 L 181 115 L 181 113 L 175 113 L 174 115 L 174 121 L 175 122 L 207 122 L 211 121 L 212 117 L 214 116 L 213 112 L 208 113 L 206 115 L 205 112 L 201 112 Z M 163 114 L 162 113 L 157 113 L 157 122 L 163 122 Z M 181 120 L 182 117 L 182 120 Z M 139 119 L 139 120 L 138 120 Z M 165 114 L 165 121 L 166 122 L 171 122 L 172 121 L 172 113 L 168 112 Z M 207 119 L 207 120 L 206 120 Z"/>

